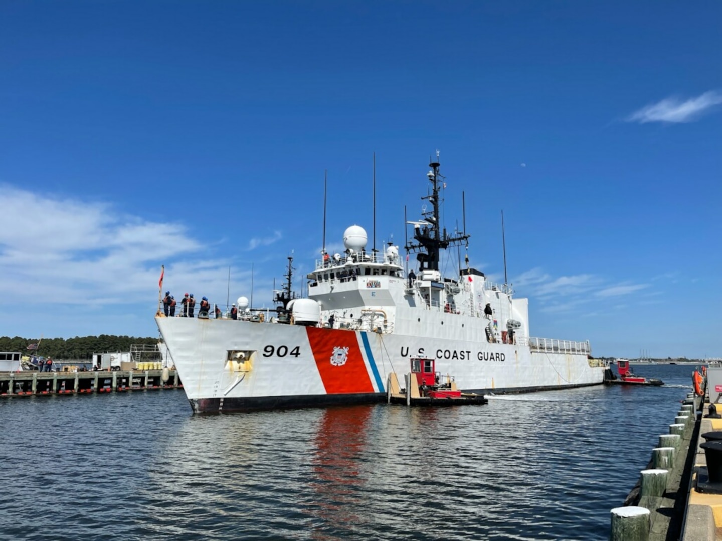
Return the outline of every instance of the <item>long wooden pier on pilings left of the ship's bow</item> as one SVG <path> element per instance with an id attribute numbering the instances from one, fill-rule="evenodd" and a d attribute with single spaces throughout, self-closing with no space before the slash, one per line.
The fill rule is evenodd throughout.
<path id="1" fill-rule="evenodd" d="M 162 370 L 0 372 L 0 397 L 90 395 L 95 392 L 182 388 L 183 384 L 175 370 L 168 372 L 166 382 L 163 382 Z"/>

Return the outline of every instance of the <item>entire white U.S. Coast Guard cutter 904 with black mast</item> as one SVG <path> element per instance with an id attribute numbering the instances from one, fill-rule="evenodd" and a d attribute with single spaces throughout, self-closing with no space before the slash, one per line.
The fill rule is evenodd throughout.
<path id="1" fill-rule="evenodd" d="M 197 413 L 232 412 L 386 400 L 388 374 L 411 357 L 431 357 L 459 390 L 528 392 L 601 384 L 606 366 L 588 342 L 532 338 L 528 299 L 508 284 L 461 268 L 439 270 L 448 247 L 469 238 L 440 226 L 439 164 L 427 177 L 430 211 L 412 222 L 419 270 L 406 273 L 399 248 L 366 252 L 360 226 L 344 233 L 343 254 L 323 253 L 308 274 L 308 298 L 288 282 L 281 306 L 240 307 L 227 317 L 165 317 L 156 322 Z M 239 299 L 240 300 L 240 299 Z"/>

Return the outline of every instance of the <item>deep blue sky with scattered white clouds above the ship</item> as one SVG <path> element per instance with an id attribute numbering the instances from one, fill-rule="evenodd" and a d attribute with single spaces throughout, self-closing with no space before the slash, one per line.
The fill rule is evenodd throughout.
<path id="1" fill-rule="evenodd" d="M 160 265 L 271 305 L 324 170 L 327 246 L 372 237 L 374 152 L 403 245 L 439 149 L 495 281 L 504 211 L 532 335 L 722 356 L 722 4 L 446 4 L 2 3 L 0 335 L 156 335 Z"/>

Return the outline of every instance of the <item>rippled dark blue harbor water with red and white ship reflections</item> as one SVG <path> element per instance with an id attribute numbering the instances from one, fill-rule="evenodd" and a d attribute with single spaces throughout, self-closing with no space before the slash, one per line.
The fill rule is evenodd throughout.
<path id="1" fill-rule="evenodd" d="M 183 391 L 0 400 L 0 538 L 606 540 L 691 390 L 199 417 Z"/>

